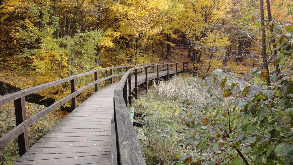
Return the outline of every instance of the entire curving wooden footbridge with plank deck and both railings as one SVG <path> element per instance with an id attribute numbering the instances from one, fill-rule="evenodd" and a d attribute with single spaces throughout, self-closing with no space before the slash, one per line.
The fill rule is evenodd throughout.
<path id="1" fill-rule="evenodd" d="M 113 74 L 114 69 L 126 72 Z M 98 72 L 110 75 L 98 79 Z M 0 106 L 14 101 L 16 127 L 0 138 L 0 150 L 18 138 L 20 158 L 16 165 L 28 164 L 146 164 L 137 135 L 127 112 L 127 102 L 137 98 L 138 86 L 148 90 L 148 81 L 188 70 L 188 62 L 130 65 L 98 69 L 25 89 L 0 98 Z M 95 80 L 76 90 L 75 79 L 94 74 Z M 119 82 L 113 77 L 122 76 Z M 98 83 L 110 85 L 98 89 Z M 71 94 L 30 118 L 26 117 L 25 96 L 70 81 Z M 76 96 L 95 86 L 91 97 L 76 107 Z M 129 90 L 130 89 L 130 90 Z M 56 108 L 71 100 L 72 112 L 29 148 L 27 129 Z"/>

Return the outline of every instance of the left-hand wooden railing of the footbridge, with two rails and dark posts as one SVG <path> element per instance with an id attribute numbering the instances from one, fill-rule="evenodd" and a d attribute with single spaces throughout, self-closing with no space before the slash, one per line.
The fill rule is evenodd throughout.
<path id="1" fill-rule="evenodd" d="M 144 65 L 154 65 L 154 64 L 159 65 L 159 64 L 163 64 L 163 63 L 152 63 L 152 64 L 144 64 Z M 110 79 L 110 83 L 113 83 L 114 82 L 113 77 L 122 76 L 125 74 L 125 72 L 113 74 L 114 69 L 126 68 L 126 71 L 127 71 L 129 68 L 137 67 L 137 66 L 142 66 L 142 65 L 139 64 L 139 65 L 129 65 L 129 66 L 119 66 L 119 67 L 97 69 L 97 70 L 93 70 L 90 72 L 85 72 L 82 74 L 77 74 L 77 75 L 74 75 L 71 77 L 60 79 L 57 81 L 52 81 L 52 82 L 42 84 L 39 86 L 35 86 L 35 87 L 29 88 L 29 89 L 17 91 L 15 93 L 11 93 L 6 96 L 0 97 L 0 106 L 3 106 L 11 101 L 14 101 L 15 118 L 16 118 L 16 127 L 14 127 L 12 130 L 7 132 L 5 135 L 3 135 L 0 138 L 0 150 L 4 149 L 10 142 L 12 142 L 16 138 L 18 138 L 19 154 L 20 154 L 20 156 L 22 156 L 29 149 L 28 131 L 27 130 L 30 126 L 32 126 L 34 123 L 36 123 L 40 119 L 47 116 L 53 110 L 59 108 L 64 103 L 66 103 L 70 100 L 71 100 L 71 110 L 74 110 L 76 108 L 76 96 L 78 96 L 79 94 L 81 94 L 86 89 L 89 89 L 92 86 L 95 86 L 95 91 L 98 91 L 98 83 L 99 82 Z M 107 77 L 98 79 L 97 73 L 101 72 L 101 71 L 105 71 L 105 70 L 110 70 L 110 75 Z M 80 77 L 83 77 L 83 76 L 86 76 L 89 74 L 94 74 L 94 81 L 92 83 L 76 90 L 75 80 L 77 78 L 80 78 Z M 26 96 L 28 96 L 32 93 L 36 93 L 38 91 L 42 91 L 44 89 L 50 88 L 50 87 L 54 87 L 56 85 L 59 85 L 59 84 L 62 84 L 62 83 L 68 82 L 68 81 L 70 81 L 71 94 L 69 94 L 68 96 L 65 96 L 61 100 L 52 104 L 51 106 L 48 106 L 44 110 L 41 110 L 40 112 L 36 113 L 35 115 L 31 116 L 30 118 L 27 118 L 26 109 L 25 109 L 25 97 Z"/>

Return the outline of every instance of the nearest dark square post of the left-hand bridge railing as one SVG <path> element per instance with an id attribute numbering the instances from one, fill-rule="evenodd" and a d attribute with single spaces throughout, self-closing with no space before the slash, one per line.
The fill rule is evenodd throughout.
<path id="1" fill-rule="evenodd" d="M 26 110 L 25 110 L 25 97 L 18 98 L 14 100 L 15 109 L 15 120 L 16 126 L 20 125 L 24 120 L 26 120 Z M 28 144 L 28 130 L 25 130 L 22 134 L 18 136 L 18 149 L 19 156 L 21 157 L 30 148 Z"/>

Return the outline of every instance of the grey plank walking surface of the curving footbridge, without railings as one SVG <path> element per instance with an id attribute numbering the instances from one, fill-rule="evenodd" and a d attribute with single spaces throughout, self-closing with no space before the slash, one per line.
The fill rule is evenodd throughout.
<path id="1" fill-rule="evenodd" d="M 174 73 L 175 69 L 169 70 L 169 74 Z M 159 77 L 167 74 L 167 70 L 160 71 Z M 157 72 L 148 73 L 147 80 L 157 76 Z M 138 85 L 145 82 L 145 74 L 137 77 Z M 116 86 L 113 83 L 94 93 L 28 149 L 15 165 L 111 164 L 111 119 Z M 132 81 L 131 89 L 134 88 Z"/>

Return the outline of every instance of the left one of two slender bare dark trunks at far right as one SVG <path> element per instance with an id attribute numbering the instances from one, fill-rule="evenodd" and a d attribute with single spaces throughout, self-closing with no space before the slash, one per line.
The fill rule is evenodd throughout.
<path id="1" fill-rule="evenodd" d="M 261 26 L 265 27 L 265 21 L 264 21 L 264 9 L 263 9 L 263 0 L 260 0 L 260 20 L 261 20 Z M 268 60 L 267 60 L 267 54 L 266 54 L 266 43 L 265 43 L 265 29 L 262 30 L 262 55 L 263 55 L 263 67 L 268 72 L 267 77 L 267 86 L 270 86 L 270 74 L 269 74 L 269 67 L 268 67 Z"/>

